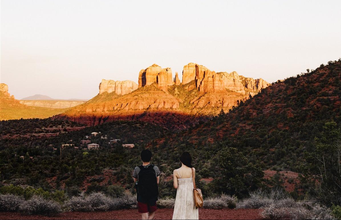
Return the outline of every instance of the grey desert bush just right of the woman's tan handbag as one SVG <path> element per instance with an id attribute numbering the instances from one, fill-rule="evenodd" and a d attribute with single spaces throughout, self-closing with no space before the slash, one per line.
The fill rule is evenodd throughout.
<path id="1" fill-rule="evenodd" d="M 225 194 L 222 194 L 219 197 L 209 197 L 204 200 L 204 208 L 211 209 L 235 208 L 236 204 L 237 197 Z"/>

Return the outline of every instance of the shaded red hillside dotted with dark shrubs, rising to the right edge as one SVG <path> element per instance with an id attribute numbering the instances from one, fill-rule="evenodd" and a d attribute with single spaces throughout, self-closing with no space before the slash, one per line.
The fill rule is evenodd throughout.
<path id="1" fill-rule="evenodd" d="M 265 169 L 303 173 L 314 138 L 332 120 L 341 127 L 341 60 L 272 84 L 228 114 L 168 137 L 163 150 L 234 147 Z"/>

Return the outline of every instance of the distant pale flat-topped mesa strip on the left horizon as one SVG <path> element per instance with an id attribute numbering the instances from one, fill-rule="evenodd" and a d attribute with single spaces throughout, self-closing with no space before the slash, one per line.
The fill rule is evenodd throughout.
<path id="1" fill-rule="evenodd" d="M 68 101 L 68 100 L 20 100 L 21 104 L 45 108 L 71 108 L 85 101 Z"/>

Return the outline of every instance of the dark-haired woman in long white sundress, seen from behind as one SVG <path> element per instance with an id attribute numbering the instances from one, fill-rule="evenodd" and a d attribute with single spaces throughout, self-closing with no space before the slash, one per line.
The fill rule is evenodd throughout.
<path id="1" fill-rule="evenodd" d="M 183 152 L 181 167 L 173 172 L 173 186 L 177 189 L 173 219 L 199 219 L 198 209 L 193 198 L 193 178 L 195 169 L 192 167 L 192 157 L 189 152 Z M 194 175 L 192 175 L 192 169 Z"/>

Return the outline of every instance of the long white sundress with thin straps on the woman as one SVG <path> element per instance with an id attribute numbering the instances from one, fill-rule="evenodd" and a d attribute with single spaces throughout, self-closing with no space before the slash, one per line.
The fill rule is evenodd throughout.
<path id="1" fill-rule="evenodd" d="M 177 170 L 178 189 L 173 211 L 173 219 L 199 219 L 199 210 L 195 207 L 193 198 L 193 177 L 181 178 Z"/>

